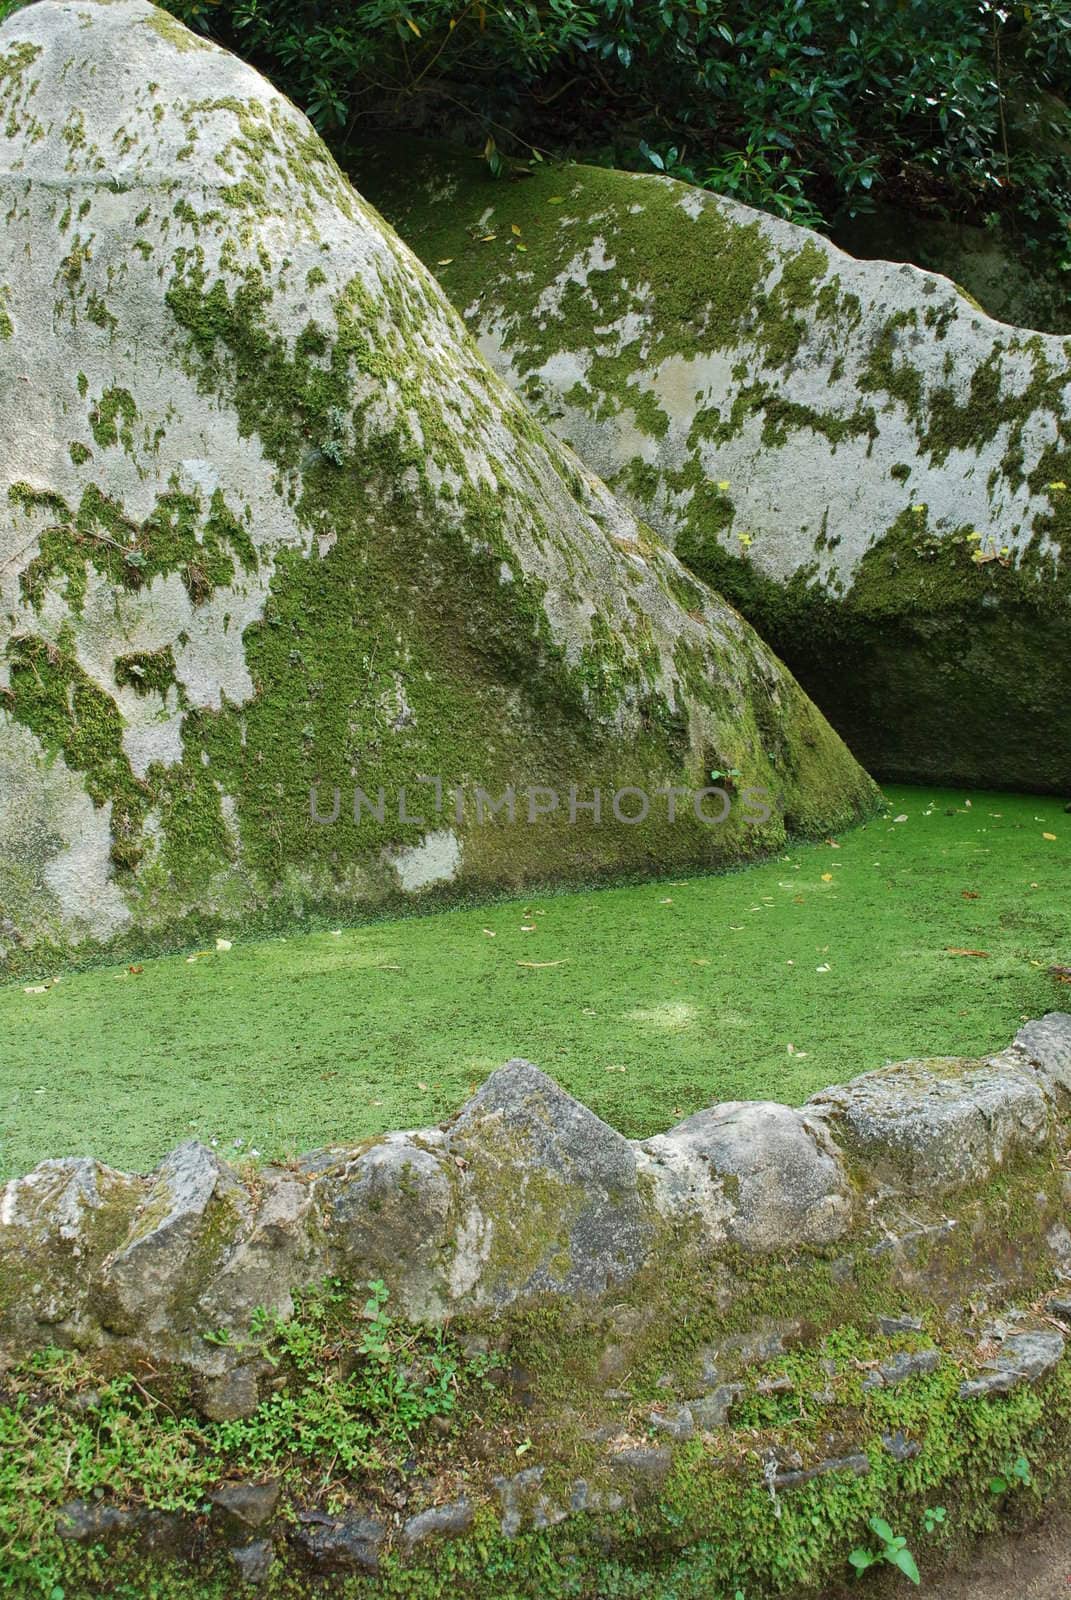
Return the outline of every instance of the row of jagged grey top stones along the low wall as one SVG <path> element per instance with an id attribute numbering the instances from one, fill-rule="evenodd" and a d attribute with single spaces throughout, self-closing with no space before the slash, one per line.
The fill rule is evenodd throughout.
<path id="1" fill-rule="evenodd" d="M 1058 1154 L 1068 1110 L 1063 1013 L 983 1061 L 906 1061 L 799 1109 L 733 1101 L 642 1141 L 509 1061 L 443 1126 L 285 1166 L 235 1170 L 197 1142 L 147 1176 L 43 1162 L 0 1202 L 0 1338 L 216 1379 L 219 1331 L 290 1315 L 325 1275 L 381 1278 L 408 1318 L 443 1322 L 597 1301 L 672 1256 L 847 1250 L 892 1195 L 954 1216 L 957 1195 Z"/>

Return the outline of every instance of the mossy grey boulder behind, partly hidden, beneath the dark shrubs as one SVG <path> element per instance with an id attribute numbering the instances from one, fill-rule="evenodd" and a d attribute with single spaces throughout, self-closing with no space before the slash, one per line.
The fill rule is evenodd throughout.
<path id="1" fill-rule="evenodd" d="M 861 762 L 1071 789 L 1063 338 L 656 174 L 495 182 L 397 142 L 351 170 L 496 371 Z"/>

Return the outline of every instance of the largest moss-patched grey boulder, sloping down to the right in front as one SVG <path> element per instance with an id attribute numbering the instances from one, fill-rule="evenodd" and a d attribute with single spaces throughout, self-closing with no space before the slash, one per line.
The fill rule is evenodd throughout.
<path id="1" fill-rule="evenodd" d="M 0 112 L 8 955 L 730 862 L 872 805 L 251 67 L 43 0 Z M 671 822 L 711 768 L 768 819 Z"/>

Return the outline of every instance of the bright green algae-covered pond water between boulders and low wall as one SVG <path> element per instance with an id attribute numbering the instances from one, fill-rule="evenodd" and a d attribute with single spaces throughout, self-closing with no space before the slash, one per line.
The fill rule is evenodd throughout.
<path id="1" fill-rule="evenodd" d="M 277 1157 L 437 1122 L 509 1056 L 629 1136 L 797 1102 L 1071 1008 L 1071 816 L 888 789 L 837 840 L 725 877 L 549 894 L 0 989 L 0 1176 Z M 965 954 L 972 952 L 972 954 Z M 29 990 L 29 992 L 27 992 Z"/>

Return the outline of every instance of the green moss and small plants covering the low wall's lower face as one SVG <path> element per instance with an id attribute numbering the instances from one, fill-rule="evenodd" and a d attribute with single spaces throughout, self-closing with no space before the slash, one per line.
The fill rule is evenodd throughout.
<path id="1" fill-rule="evenodd" d="M 1026 1202 L 1039 1178 L 1041 1168 L 1005 1174 L 1004 1198 Z M 232 1571 L 211 1523 L 199 1530 L 194 1560 L 181 1563 L 133 1539 L 106 1557 L 98 1547 L 78 1549 L 56 1538 L 58 1510 L 72 1485 L 85 1493 L 98 1483 L 102 1429 L 123 1440 L 99 1483 L 104 1506 L 165 1507 L 192 1517 L 221 1477 L 247 1475 L 256 1462 L 282 1485 L 285 1526 L 293 1509 L 322 1502 L 315 1486 L 328 1459 L 335 1512 L 375 1502 L 386 1485 L 394 1504 L 399 1490 L 408 1496 L 405 1514 L 423 1504 L 415 1488 L 423 1482 L 439 1485 L 432 1499 L 469 1496 L 475 1517 L 467 1534 L 413 1552 L 387 1541 L 375 1579 L 331 1579 L 339 1595 L 435 1600 L 448 1586 L 475 1600 L 732 1600 L 743 1589 L 772 1600 L 836 1581 L 847 1571 L 848 1552 L 866 1541 L 872 1515 L 895 1523 L 927 1573 L 941 1550 L 961 1549 L 1004 1517 L 1034 1514 L 1066 1478 L 1068 1362 L 1009 1395 L 961 1394 L 964 1373 L 978 1357 L 970 1330 L 946 1317 L 946 1307 L 969 1294 L 972 1282 L 991 1282 L 985 1280 L 985 1240 L 1007 1226 L 997 1190 L 980 1194 L 975 1210 L 962 1213 L 962 1234 L 975 1242 L 973 1280 L 956 1274 L 930 1286 L 916 1277 L 905 1291 L 888 1254 L 863 1240 L 850 1258 L 815 1253 L 791 1264 L 730 1253 L 712 1282 L 709 1261 L 688 1259 L 682 1240 L 668 1240 L 656 1269 L 615 1293 L 613 1306 L 552 1299 L 511 1309 L 493 1325 L 463 1318 L 458 1333 L 491 1334 L 501 1365 L 490 1370 L 479 1357 L 466 1360 L 453 1333 L 435 1339 L 395 1322 L 386 1328 L 378 1381 L 368 1386 L 367 1323 L 357 1320 L 365 1294 L 351 1298 L 331 1283 L 322 1296 L 307 1298 L 290 1330 L 269 1320 L 267 1333 L 239 1338 L 235 1354 L 245 1354 L 247 1342 L 255 1352 L 264 1347 L 275 1381 L 271 1400 L 234 1424 L 199 1419 L 178 1376 L 142 1373 L 134 1386 L 99 1357 L 45 1352 L 8 1374 L 0 1406 L 8 1445 L 3 1482 L 13 1490 L 6 1509 L 0 1501 L 0 1526 L 8 1534 L 13 1592 L 37 1594 L 42 1584 L 61 1582 L 72 1600 L 83 1600 L 106 1573 L 117 1594 L 152 1592 L 162 1600 L 226 1600 L 231 1594 Z M 1047 1200 L 1058 1214 L 1055 1195 Z M 1021 1245 L 1005 1290 L 1044 1294 L 1050 1258 L 1033 1234 Z M 924 1331 L 882 1336 L 876 1328 L 882 1312 L 917 1312 Z M 765 1330 L 789 1333 L 784 1354 L 749 1365 L 733 1355 L 741 1333 Z M 626 1363 L 616 1400 L 604 1395 L 608 1338 Z M 941 1355 L 933 1371 L 893 1387 L 866 1382 L 888 1357 L 933 1347 Z M 354 1354 L 339 1368 L 322 1358 L 325 1349 Z M 652 1408 L 695 1394 L 703 1352 L 708 1360 L 717 1352 L 724 1378 L 743 1381 L 728 1426 L 677 1445 L 664 1482 L 640 1493 L 634 1506 L 567 1515 L 515 1538 L 501 1533 L 498 1474 L 514 1477 L 522 1466 L 538 1464 L 540 1493 L 549 1506 L 568 1506 L 580 1477 L 592 1498 L 621 1490 L 599 1440 L 664 1442 L 650 1422 Z M 392 1386 L 383 1382 L 383 1362 Z M 448 1402 L 439 1402 L 432 1384 L 423 1408 L 413 1405 L 424 1371 L 450 1374 Z M 82 1400 L 86 1389 L 96 1398 L 91 1429 Z M 402 1390 L 408 1413 L 392 1406 L 391 1397 Z M 434 1418 L 437 1432 L 426 1426 Z M 477 1429 L 479 1453 L 467 1448 Z M 914 1446 L 909 1459 L 887 1448 L 895 1434 Z M 527 1461 L 517 1456 L 519 1437 Z M 408 1456 L 405 1475 L 397 1470 L 402 1454 Z M 810 1467 L 847 1454 L 864 1458 L 866 1470 L 826 1472 L 797 1488 L 772 1488 L 765 1478 L 770 1458 Z M 991 1478 L 1018 1456 L 1031 1466 L 1029 1488 L 994 1494 Z M 946 1509 L 940 1538 L 924 1528 L 925 1510 L 938 1504 Z M 272 1600 L 309 1600 L 314 1592 L 283 1544 L 267 1592 Z"/>

